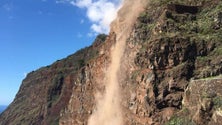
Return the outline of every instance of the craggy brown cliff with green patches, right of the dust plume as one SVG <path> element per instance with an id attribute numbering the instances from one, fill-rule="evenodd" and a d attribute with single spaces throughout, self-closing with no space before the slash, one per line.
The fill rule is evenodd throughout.
<path id="1" fill-rule="evenodd" d="M 189 124 L 200 124 L 195 121 L 195 113 L 199 113 L 198 119 L 204 121 L 203 112 L 180 114 L 181 117 L 176 117 L 176 112 L 186 109 L 182 102 L 191 79 L 222 73 L 221 4 L 216 0 L 153 1 L 138 18 L 129 38 L 128 56 L 126 54 L 126 59 L 131 55 L 134 59 L 134 62 L 129 61 L 132 70 L 129 70 L 128 79 L 132 78 L 132 81 L 129 81 L 127 91 L 131 90 L 131 94 L 126 97 L 132 97 L 128 99 L 128 107 L 139 117 L 138 120 L 130 118 L 135 124 L 186 125 L 185 116 L 190 116 L 185 119 Z M 216 83 L 221 84 L 222 80 Z M 221 98 L 221 94 L 216 95 Z M 201 107 L 201 102 L 194 103 Z M 215 110 L 212 108 L 212 112 Z M 179 120 L 175 121 L 174 117 Z M 210 117 L 208 121 L 213 121 L 212 115 L 207 117 Z"/>

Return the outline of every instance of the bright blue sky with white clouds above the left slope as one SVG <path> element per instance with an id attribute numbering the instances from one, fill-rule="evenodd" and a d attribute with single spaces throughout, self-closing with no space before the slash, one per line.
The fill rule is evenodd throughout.
<path id="1" fill-rule="evenodd" d="M 0 0 L 0 105 L 27 73 L 67 57 L 108 33 L 121 0 Z"/>

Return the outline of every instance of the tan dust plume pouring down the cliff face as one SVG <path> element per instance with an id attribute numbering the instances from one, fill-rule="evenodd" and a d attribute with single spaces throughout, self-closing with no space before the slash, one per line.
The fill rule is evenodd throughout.
<path id="1" fill-rule="evenodd" d="M 116 34 L 116 44 L 111 49 L 111 64 L 106 73 L 106 90 L 102 99 L 97 101 L 97 110 L 89 118 L 88 125 L 123 125 L 121 95 L 117 73 L 120 70 L 121 57 L 125 50 L 126 39 L 130 35 L 138 15 L 148 0 L 125 0 L 116 20 L 111 24 L 111 32 Z M 121 74 L 121 73 L 118 73 Z"/>

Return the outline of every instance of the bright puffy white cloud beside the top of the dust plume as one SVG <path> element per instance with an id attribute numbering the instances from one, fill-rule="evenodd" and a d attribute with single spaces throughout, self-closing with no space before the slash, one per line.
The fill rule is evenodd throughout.
<path id="1" fill-rule="evenodd" d="M 56 3 L 70 3 L 86 9 L 86 16 L 92 22 L 94 33 L 108 33 L 109 25 L 115 19 L 122 0 L 57 0 Z"/>

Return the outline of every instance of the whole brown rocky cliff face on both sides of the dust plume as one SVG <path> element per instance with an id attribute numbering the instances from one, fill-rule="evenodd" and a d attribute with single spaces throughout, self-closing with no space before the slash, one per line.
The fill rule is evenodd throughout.
<path id="1" fill-rule="evenodd" d="M 220 124 L 222 2 L 150 0 L 144 5 L 125 36 L 118 72 L 123 124 Z M 112 46 L 121 36 L 115 26 L 92 46 L 30 73 L 0 124 L 88 124 L 106 89 Z"/>

